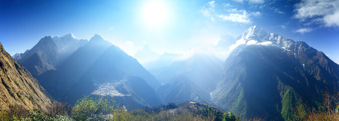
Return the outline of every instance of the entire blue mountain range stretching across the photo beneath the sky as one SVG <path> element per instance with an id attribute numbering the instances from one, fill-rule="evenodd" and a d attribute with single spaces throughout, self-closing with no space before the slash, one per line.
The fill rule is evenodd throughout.
<path id="1" fill-rule="evenodd" d="M 199 101 L 242 118 L 293 120 L 303 102 L 318 109 L 323 94 L 339 88 L 339 65 L 323 52 L 257 26 L 237 38 L 221 35 L 212 52 L 183 56 L 146 45 L 135 59 L 99 35 L 69 34 L 46 36 L 13 58 L 56 100 L 111 96 L 129 110 Z"/>

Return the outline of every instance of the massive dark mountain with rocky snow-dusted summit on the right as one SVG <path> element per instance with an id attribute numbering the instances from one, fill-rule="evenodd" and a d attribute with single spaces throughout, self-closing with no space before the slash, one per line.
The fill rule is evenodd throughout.
<path id="1" fill-rule="evenodd" d="M 302 106 L 321 105 L 322 94 L 338 89 L 339 65 L 323 52 L 254 26 L 239 36 L 239 45 L 224 62 L 212 101 L 242 117 L 294 119 Z M 249 42 L 251 41 L 251 42 Z M 335 89 L 336 88 L 336 89 Z"/>

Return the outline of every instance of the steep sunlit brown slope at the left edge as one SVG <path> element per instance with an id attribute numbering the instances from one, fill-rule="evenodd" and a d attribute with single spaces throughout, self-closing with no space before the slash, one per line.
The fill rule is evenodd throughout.
<path id="1" fill-rule="evenodd" d="M 42 109 L 52 103 L 51 96 L 39 82 L 10 54 L 0 43 L 0 108 L 7 109 L 10 105 L 22 105 L 26 109 Z"/>

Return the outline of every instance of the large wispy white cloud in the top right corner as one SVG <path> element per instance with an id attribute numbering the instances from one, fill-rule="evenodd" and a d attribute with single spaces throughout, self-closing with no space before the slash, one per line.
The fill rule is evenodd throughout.
<path id="1" fill-rule="evenodd" d="M 339 1 L 337 0 L 302 0 L 295 7 L 294 17 L 301 21 L 320 22 L 326 27 L 339 27 Z"/>

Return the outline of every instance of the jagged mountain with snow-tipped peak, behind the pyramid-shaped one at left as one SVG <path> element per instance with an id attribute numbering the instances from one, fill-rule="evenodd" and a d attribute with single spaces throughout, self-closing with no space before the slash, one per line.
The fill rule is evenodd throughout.
<path id="1" fill-rule="evenodd" d="M 58 65 L 86 43 L 87 40 L 78 39 L 72 33 L 62 37 L 45 36 L 32 49 L 16 53 L 13 58 L 36 76 L 57 69 Z"/>

